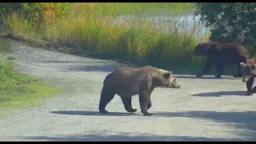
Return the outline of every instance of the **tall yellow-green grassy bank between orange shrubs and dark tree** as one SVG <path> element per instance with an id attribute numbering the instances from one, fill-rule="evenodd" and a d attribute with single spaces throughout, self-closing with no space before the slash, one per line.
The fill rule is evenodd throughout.
<path id="1" fill-rule="evenodd" d="M 191 53 L 208 40 L 209 32 L 186 18 L 193 14 L 191 3 L 74 3 L 70 9 L 66 18 L 42 23 L 40 31 L 22 14 L 12 14 L 5 30 L 29 42 L 47 40 L 81 53 L 159 67 L 198 66 L 200 59 Z"/>

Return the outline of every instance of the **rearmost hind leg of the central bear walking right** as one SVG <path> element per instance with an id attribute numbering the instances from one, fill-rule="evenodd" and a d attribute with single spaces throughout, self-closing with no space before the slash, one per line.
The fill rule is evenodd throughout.
<path id="1" fill-rule="evenodd" d="M 102 114 L 108 113 L 105 109 L 106 105 L 114 98 L 115 91 L 114 90 L 107 90 L 106 87 L 102 88 L 102 94 L 98 106 L 98 110 Z"/>

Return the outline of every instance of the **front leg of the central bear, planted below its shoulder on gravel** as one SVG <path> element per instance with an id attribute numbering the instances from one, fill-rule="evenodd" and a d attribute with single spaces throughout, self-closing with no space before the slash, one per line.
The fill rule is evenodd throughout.
<path id="1" fill-rule="evenodd" d="M 152 113 L 149 113 L 148 107 L 150 106 L 151 100 L 150 100 L 150 93 L 146 90 L 141 91 L 138 94 L 139 97 L 139 104 L 141 106 L 141 112 L 144 116 L 152 116 Z"/>

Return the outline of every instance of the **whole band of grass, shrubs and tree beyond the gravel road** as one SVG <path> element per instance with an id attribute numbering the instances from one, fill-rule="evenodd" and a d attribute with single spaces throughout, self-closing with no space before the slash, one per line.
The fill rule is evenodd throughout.
<path id="1" fill-rule="evenodd" d="M 201 67 L 202 58 L 194 58 L 192 51 L 209 38 L 242 42 L 249 48 L 256 42 L 254 3 L 16 2 L 2 6 L 3 30 L 14 38 L 163 68 Z M 201 22 L 192 20 L 192 14 Z"/>

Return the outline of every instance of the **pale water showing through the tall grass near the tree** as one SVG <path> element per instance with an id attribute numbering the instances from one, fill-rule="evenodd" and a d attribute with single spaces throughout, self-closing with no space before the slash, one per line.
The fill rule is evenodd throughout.
<path id="1" fill-rule="evenodd" d="M 137 22 L 150 23 L 149 25 L 153 29 L 161 30 L 163 33 L 170 34 L 194 34 L 195 37 L 206 37 L 210 35 L 210 29 L 203 26 L 199 22 L 199 16 L 195 17 L 192 14 L 187 15 L 122 15 L 115 19 L 114 25 L 120 25 L 121 23 L 126 26 L 133 26 Z"/>

